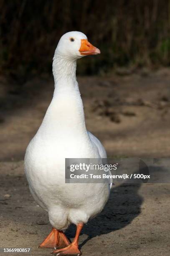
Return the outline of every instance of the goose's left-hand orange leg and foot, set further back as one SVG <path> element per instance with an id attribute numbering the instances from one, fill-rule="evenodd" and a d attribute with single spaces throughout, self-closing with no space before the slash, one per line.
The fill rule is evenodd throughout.
<path id="1" fill-rule="evenodd" d="M 63 231 L 58 231 L 56 228 L 52 228 L 49 235 L 43 241 L 43 243 L 38 246 L 39 248 L 63 248 L 70 244 L 69 240 Z"/>

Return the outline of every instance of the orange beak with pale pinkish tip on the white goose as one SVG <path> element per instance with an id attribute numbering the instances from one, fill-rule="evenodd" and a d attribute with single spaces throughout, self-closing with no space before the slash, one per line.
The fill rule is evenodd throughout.
<path id="1" fill-rule="evenodd" d="M 87 39 L 81 39 L 81 46 L 79 49 L 81 55 L 100 54 L 100 50 L 89 43 Z"/>

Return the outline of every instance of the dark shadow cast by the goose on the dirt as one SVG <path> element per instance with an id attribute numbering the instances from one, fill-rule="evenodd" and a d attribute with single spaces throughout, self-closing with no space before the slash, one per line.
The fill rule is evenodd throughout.
<path id="1" fill-rule="evenodd" d="M 113 187 L 104 210 L 84 225 L 83 234 L 88 237 L 79 245 L 84 244 L 96 236 L 111 233 L 129 225 L 141 212 L 142 197 L 138 194 L 141 184 L 121 184 Z M 66 230 L 66 236 L 74 238 L 75 226 Z"/>

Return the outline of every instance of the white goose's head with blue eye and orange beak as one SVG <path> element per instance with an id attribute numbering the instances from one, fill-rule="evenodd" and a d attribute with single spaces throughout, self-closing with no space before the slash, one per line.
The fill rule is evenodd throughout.
<path id="1" fill-rule="evenodd" d="M 61 36 L 54 58 L 57 54 L 75 60 L 86 55 L 100 54 L 100 50 L 89 43 L 84 33 L 71 31 Z"/>

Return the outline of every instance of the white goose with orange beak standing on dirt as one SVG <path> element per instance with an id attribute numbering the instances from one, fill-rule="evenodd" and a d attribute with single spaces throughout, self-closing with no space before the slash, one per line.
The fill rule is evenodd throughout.
<path id="1" fill-rule="evenodd" d="M 25 154 L 30 192 L 48 212 L 53 227 L 40 247 L 59 248 L 53 251 L 57 255 L 81 255 L 81 229 L 101 212 L 109 197 L 109 179 L 106 183 L 65 183 L 65 158 L 107 158 L 100 141 L 86 131 L 76 81 L 76 60 L 99 53 L 81 32 L 68 32 L 61 37 L 53 57 L 53 99 Z M 63 233 L 70 223 L 77 226 L 72 243 Z"/>

